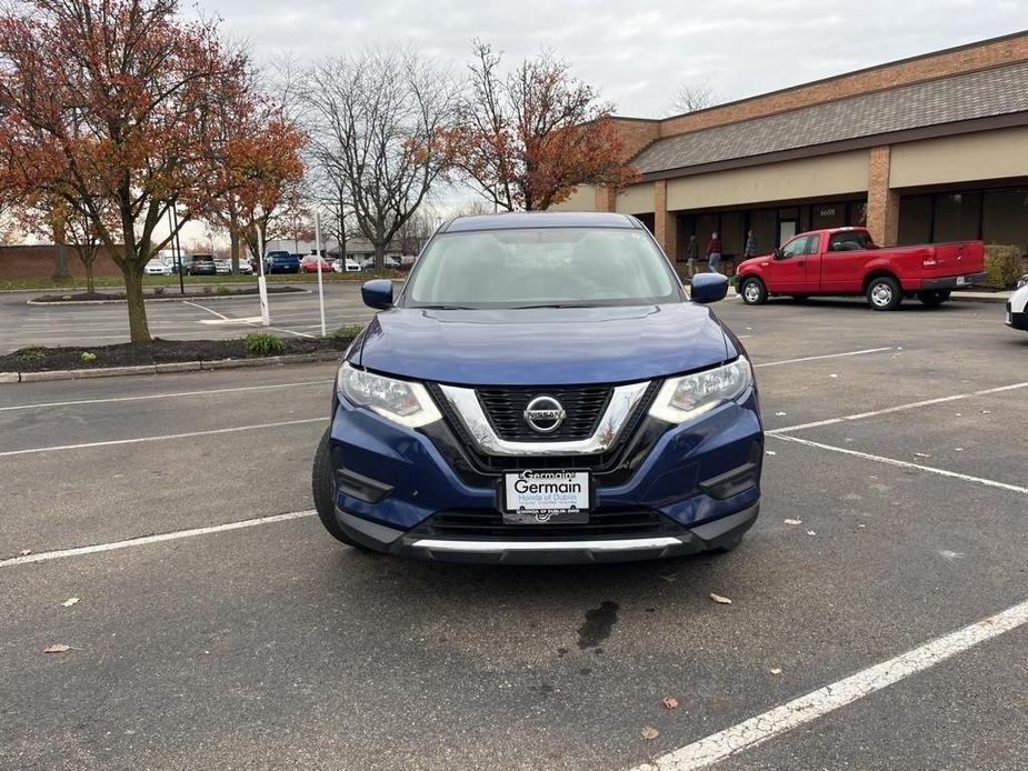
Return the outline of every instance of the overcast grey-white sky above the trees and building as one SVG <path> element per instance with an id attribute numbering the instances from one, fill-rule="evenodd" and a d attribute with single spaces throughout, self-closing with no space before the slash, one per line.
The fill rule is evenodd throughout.
<path id="1" fill-rule="evenodd" d="M 1028 28 L 1028 0 L 197 2 L 258 60 L 403 42 L 459 68 L 476 37 L 509 61 L 548 48 L 640 117 L 668 114 L 680 81 L 709 81 L 728 101 Z"/>

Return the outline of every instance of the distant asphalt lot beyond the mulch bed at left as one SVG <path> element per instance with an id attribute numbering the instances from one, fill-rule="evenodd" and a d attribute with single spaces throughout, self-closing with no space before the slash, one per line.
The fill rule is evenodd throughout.
<path id="1" fill-rule="evenodd" d="M 207 284 L 214 290 L 212 284 Z M 312 337 L 321 332 L 317 284 L 296 282 L 308 291 L 271 294 L 273 332 L 282 337 Z M 190 287 L 197 289 L 197 287 Z M 169 287 L 169 296 L 177 288 Z M 37 292 L 0 292 L 0 356 L 26 346 L 107 346 L 128 342 L 129 322 L 123 303 L 30 306 Z M 326 282 L 325 318 L 331 332 L 365 323 L 375 313 L 360 301 L 360 283 Z M 257 297 L 190 296 L 188 301 L 148 302 L 150 333 L 168 340 L 239 338 L 260 323 Z"/>

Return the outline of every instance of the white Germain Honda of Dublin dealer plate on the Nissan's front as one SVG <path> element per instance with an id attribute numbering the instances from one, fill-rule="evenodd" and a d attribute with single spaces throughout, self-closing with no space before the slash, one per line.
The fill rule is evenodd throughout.
<path id="1" fill-rule="evenodd" d="M 517 471 L 503 474 L 503 522 L 509 524 L 589 521 L 588 471 Z"/>

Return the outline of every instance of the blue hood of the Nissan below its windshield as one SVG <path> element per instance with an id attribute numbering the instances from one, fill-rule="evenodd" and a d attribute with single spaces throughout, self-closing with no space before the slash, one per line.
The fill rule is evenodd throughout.
<path id="1" fill-rule="evenodd" d="M 560 386 L 649 380 L 735 358 L 713 312 L 689 302 L 631 308 L 379 313 L 351 359 L 416 380 Z"/>

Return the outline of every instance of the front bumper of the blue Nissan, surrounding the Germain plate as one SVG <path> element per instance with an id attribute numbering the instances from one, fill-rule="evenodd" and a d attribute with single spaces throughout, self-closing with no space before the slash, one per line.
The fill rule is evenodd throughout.
<path id="1" fill-rule="evenodd" d="M 483 467 L 448 419 L 412 431 L 337 400 L 330 444 L 336 519 L 378 551 L 503 563 L 675 557 L 717 549 L 748 529 L 759 509 L 763 457 L 756 391 L 682 425 L 645 412 L 643 405 L 610 462 L 589 469 L 589 525 L 532 531 L 501 523 L 505 469 Z M 531 465 L 535 458 L 508 460 L 506 470 L 517 462 L 556 468 L 542 465 L 543 459 L 540 465 Z M 555 462 L 570 469 L 587 460 Z M 456 520 L 466 524 L 451 527 Z"/>

